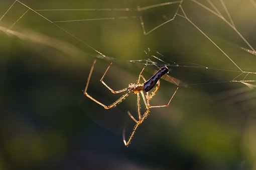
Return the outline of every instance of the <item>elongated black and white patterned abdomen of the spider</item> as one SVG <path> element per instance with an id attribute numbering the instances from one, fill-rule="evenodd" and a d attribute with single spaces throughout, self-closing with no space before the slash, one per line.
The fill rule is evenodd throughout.
<path id="1" fill-rule="evenodd" d="M 146 92 L 150 91 L 157 84 L 157 81 L 161 78 L 161 76 L 168 72 L 169 69 L 167 68 L 167 66 L 163 66 L 162 68 L 160 68 L 149 80 L 144 82 L 144 90 Z"/>

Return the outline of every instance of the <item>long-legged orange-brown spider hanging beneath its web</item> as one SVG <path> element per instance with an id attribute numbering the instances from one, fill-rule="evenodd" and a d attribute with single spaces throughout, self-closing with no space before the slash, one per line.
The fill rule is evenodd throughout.
<path id="1" fill-rule="evenodd" d="M 100 101 L 98 101 L 97 99 L 93 98 L 91 95 L 89 95 L 87 93 L 87 88 L 88 88 L 88 84 L 89 84 L 89 81 L 90 81 L 90 78 L 91 78 L 91 74 L 92 74 L 92 71 L 93 71 L 93 68 L 94 68 L 94 65 L 96 63 L 96 60 L 95 59 L 93 61 L 93 64 L 91 66 L 91 69 L 90 69 L 90 72 L 89 72 L 89 76 L 88 76 L 88 79 L 87 79 L 87 83 L 86 83 L 86 86 L 85 86 L 85 89 L 84 89 L 84 95 L 89 97 L 91 100 L 95 101 L 96 103 L 98 103 L 99 105 L 103 106 L 105 109 L 109 109 L 109 108 L 112 108 L 114 106 L 116 106 L 118 103 L 120 103 L 121 101 L 123 101 L 131 92 L 133 92 L 134 94 L 137 94 L 137 109 L 138 109 L 138 118 L 139 120 L 137 120 L 131 113 L 130 111 L 127 111 L 127 113 L 129 114 L 129 116 L 136 122 L 136 125 L 134 127 L 134 130 L 133 132 L 131 133 L 129 139 L 126 141 L 125 140 L 125 129 L 123 129 L 123 133 L 122 133 L 122 136 L 123 136 L 123 143 L 126 147 L 129 146 L 129 144 L 131 143 L 131 140 L 135 134 L 135 131 L 137 130 L 137 128 L 139 127 L 140 124 L 142 124 L 142 122 L 144 121 L 144 119 L 147 117 L 147 115 L 149 114 L 150 112 L 150 108 L 154 108 L 154 107 L 166 107 L 166 106 L 169 106 L 170 102 L 172 101 L 172 98 L 174 97 L 175 93 L 177 92 L 178 88 L 179 88 L 179 84 L 176 83 L 176 80 L 174 77 L 170 77 L 169 76 L 169 79 L 171 78 L 171 82 L 175 82 L 176 85 L 177 85 L 177 88 L 175 90 L 175 92 L 173 93 L 173 95 L 171 96 L 169 102 L 165 105 L 151 105 L 150 104 L 150 100 L 153 98 L 153 96 L 155 95 L 155 93 L 157 92 L 157 90 L 159 89 L 160 87 L 160 78 L 167 74 L 169 72 L 169 69 L 167 66 L 163 66 L 161 67 L 149 80 L 146 80 L 144 78 L 144 76 L 142 75 L 142 72 L 144 71 L 145 67 L 147 65 L 145 65 L 143 67 L 143 69 L 141 70 L 140 74 L 139 74 L 139 78 L 137 80 L 137 83 L 130 83 L 128 87 L 126 88 L 123 88 L 123 89 L 120 89 L 120 90 L 113 90 L 112 88 L 110 88 L 104 81 L 103 81 L 103 78 L 105 76 L 105 74 L 107 73 L 109 67 L 112 65 L 113 61 L 108 65 L 107 69 L 105 70 L 104 74 L 102 75 L 100 81 L 102 82 L 103 85 L 105 85 L 112 93 L 116 94 L 116 93 L 120 93 L 120 92 L 125 92 L 125 94 L 123 94 L 120 98 L 118 98 L 115 102 L 113 102 L 112 104 L 110 105 L 105 105 L 103 103 L 101 103 Z M 144 83 L 140 83 L 140 79 L 141 77 L 143 78 L 144 80 Z M 152 90 L 154 87 L 156 86 L 155 90 L 153 90 L 153 92 L 151 92 L 151 94 L 149 94 L 149 91 Z M 145 106 L 146 106 L 146 111 L 144 112 L 144 114 L 142 115 L 141 114 L 141 110 L 140 110 L 140 94 L 143 98 L 143 101 L 145 103 Z"/>

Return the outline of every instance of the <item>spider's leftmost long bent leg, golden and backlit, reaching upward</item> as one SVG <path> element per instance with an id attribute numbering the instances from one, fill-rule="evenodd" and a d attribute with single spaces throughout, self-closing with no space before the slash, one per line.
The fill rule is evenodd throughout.
<path id="1" fill-rule="evenodd" d="M 88 79 L 87 79 L 87 83 L 86 83 L 86 86 L 85 86 L 85 89 L 84 89 L 84 95 L 85 96 L 87 96 L 88 98 L 90 98 L 91 100 L 93 100 L 93 101 L 95 101 L 96 103 L 98 103 L 99 105 L 101 105 L 101 106 L 103 106 L 105 109 L 109 109 L 109 108 L 111 108 L 111 107 L 114 107 L 114 106 L 116 106 L 119 102 L 121 102 L 122 100 L 124 100 L 129 94 L 130 94 L 130 92 L 132 91 L 132 90 L 130 90 L 129 88 L 125 88 L 124 90 L 122 90 L 122 91 L 127 91 L 125 94 L 123 94 L 120 98 L 118 98 L 115 102 L 113 102 L 112 104 L 110 104 L 110 105 L 108 105 L 108 106 L 106 106 L 105 104 L 103 104 L 103 103 L 101 103 L 100 101 L 98 101 L 98 100 L 96 100 L 95 98 L 93 98 L 92 96 L 90 96 L 86 91 L 87 91 L 87 88 L 88 88 L 88 84 L 89 84 L 89 81 L 90 81 L 90 78 L 91 78 L 91 74 L 92 74 L 92 71 L 93 71 L 93 68 L 94 68 L 94 65 L 95 65 L 95 63 L 96 63 L 96 60 L 97 59 L 95 59 L 94 61 L 93 61 L 93 64 L 92 64 L 92 66 L 91 66 L 91 69 L 90 69 L 90 72 L 89 72 L 89 76 L 88 76 Z M 109 68 L 109 66 L 108 66 L 108 68 Z M 108 69 L 107 68 L 107 69 Z M 105 71 L 106 72 L 106 71 Z M 120 91 L 120 92 L 122 92 L 122 91 Z"/>

